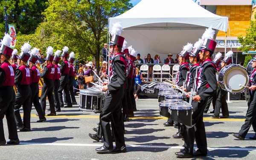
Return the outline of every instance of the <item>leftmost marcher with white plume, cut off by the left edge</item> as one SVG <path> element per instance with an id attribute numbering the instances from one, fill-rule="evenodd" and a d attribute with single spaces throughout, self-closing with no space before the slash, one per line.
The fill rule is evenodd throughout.
<path id="1" fill-rule="evenodd" d="M 3 37 L 0 48 L 0 146 L 6 144 L 3 130 L 3 118 L 6 116 L 9 139 L 7 144 L 19 144 L 20 140 L 17 135 L 16 123 L 13 114 L 13 106 L 15 103 L 14 86 L 14 70 L 9 63 L 12 56 L 12 48 L 10 48 L 12 38 L 9 34 Z"/>

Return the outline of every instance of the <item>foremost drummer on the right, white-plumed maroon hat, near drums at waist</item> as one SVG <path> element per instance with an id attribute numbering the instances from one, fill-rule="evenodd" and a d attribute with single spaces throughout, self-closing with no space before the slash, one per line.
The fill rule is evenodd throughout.
<path id="1" fill-rule="evenodd" d="M 210 60 L 217 45 L 217 43 L 212 40 L 214 34 L 215 31 L 212 30 L 212 28 L 208 28 L 202 36 L 204 42 L 201 48 L 199 48 L 199 56 L 204 63 L 200 66 L 200 70 L 198 71 L 197 89 L 199 95 L 195 95 L 193 98 L 194 101 L 192 102 L 194 111 L 192 114 L 192 127 L 184 127 L 184 149 L 175 153 L 179 158 L 207 155 L 207 140 L 203 113 L 209 96 L 217 90 L 215 64 Z M 194 140 L 196 140 L 198 150 L 193 153 Z"/>

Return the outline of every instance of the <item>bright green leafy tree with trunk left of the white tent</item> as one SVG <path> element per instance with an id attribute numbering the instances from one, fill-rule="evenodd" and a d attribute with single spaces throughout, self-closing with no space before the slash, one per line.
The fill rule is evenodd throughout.
<path id="1" fill-rule="evenodd" d="M 99 68 L 102 44 L 107 41 L 108 18 L 132 7 L 130 0 L 49 0 L 44 12 L 53 31 L 76 49 L 76 58 L 95 57 Z"/>

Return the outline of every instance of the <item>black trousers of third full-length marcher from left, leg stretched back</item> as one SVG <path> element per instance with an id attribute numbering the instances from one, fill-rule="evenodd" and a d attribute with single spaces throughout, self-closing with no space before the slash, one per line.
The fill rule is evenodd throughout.
<path id="1" fill-rule="evenodd" d="M 30 108 L 32 108 L 32 104 L 34 104 L 35 110 L 38 113 L 38 116 L 40 119 L 45 118 L 43 109 L 41 107 L 41 104 L 39 102 L 39 88 L 38 88 L 38 83 L 33 82 L 30 84 L 30 89 L 31 89 L 31 98 L 30 98 Z"/>

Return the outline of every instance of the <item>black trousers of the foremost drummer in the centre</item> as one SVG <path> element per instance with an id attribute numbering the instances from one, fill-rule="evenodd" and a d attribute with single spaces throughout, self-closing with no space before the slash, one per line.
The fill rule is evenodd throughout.
<path id="1" fill-rule="evenodd" d="M 115 92 L 110 92 L 105 99 L 105 104 L 102 109 L 102 116 L 100 118 L 101 128 L 103 132 L 104 145 L 108 149 L 113 149 L 113 138 L 110 128 L 110 122 L 113 120 L 112 129 L 116 142 L 116 148 L 122 149 L 125 147 L 125 138 L 123 133 L 123 121 L 122 121 L 122 98 L 124 95 L 124 87 L 122 86 Z"/>

